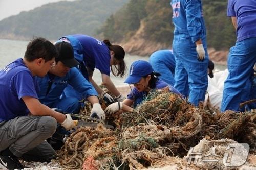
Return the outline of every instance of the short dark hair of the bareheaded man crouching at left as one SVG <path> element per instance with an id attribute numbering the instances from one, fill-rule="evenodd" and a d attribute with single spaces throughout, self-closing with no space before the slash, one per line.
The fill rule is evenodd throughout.
<path id="1" fill-rule="evenodd" d="M 57 56 L 58 51 L 49 40 L 41 37 L 34 37 L 27 46 L 24 58 L 29 62 L 38 58 L 42 58 L 47 62 Z"/>

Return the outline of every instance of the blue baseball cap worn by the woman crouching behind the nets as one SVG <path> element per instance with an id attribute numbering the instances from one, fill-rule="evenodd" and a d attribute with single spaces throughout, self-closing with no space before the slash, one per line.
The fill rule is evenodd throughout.
<path id="1" fill-rule="evenodd" d="M 153 68 L 149 62 L 144 60 L 134 61 L 129 70 L 129 76 L 124 83 L 134 84 L 138 83 L 144 76 L 150 75 L 153 72 Z"/>

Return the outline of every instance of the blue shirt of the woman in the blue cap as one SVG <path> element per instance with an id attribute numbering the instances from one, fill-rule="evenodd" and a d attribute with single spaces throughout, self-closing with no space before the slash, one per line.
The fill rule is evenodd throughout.
<path id="1" fill-rule="evenodd" d="M 156 89 L 161 89 L 161 88 L 164 88 L 164 87 L 167 87 L 167 86 L 169 86 L 169 91 L 170 92 L 181 95 L 181 93 L 178 90 L 176 90 L 174 87 L 168 85 L 164 81 L 158 80 L 156 82 Z M 140 104 L 146 98 L 146 96 L 147 96 L 146 91 L 139 92 L 137 90 L 137 88 L 133 88 L 132 91 L 127 95 L 127 99 L 134 100 L 134 107 L 137 107 L 137 105 Z"/>

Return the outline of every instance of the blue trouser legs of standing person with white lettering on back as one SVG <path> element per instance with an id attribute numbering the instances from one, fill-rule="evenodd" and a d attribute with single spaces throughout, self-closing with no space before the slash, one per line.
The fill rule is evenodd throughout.
<path id="1" fill-rule="evenodd" d="M 204 46 L 205 47 L 205 46 Z M 175 37 L 173 41 L 175 55 L 175 85 L 182 95 L 189 95 L 189 102 L 198 106 L 198 102 L 204 101 L 208 87 L 208 53 L 205 48 L 205 59 L 197 60 L 196 44 L 189 39 Z M 189 94 L 187 84 L 189 86 Z"/>

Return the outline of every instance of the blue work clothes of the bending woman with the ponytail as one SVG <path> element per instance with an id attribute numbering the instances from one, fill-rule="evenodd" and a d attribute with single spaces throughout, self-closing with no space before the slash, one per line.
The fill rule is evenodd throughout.
<path id="1" fill-rule="evenodd" d="M 60 38 L 59 41 L 67 40 L 74 49 L 74 57 L 80 63 L 79 71 L 89 81 L 95 68 L 99 69 L 101 74 L 110 76 L 110 50 L 104 42 L 87 35 L 68 35 Z M 81 94 L 68 86 L 63 96 L 75 97 L 82 99 Z"/>

